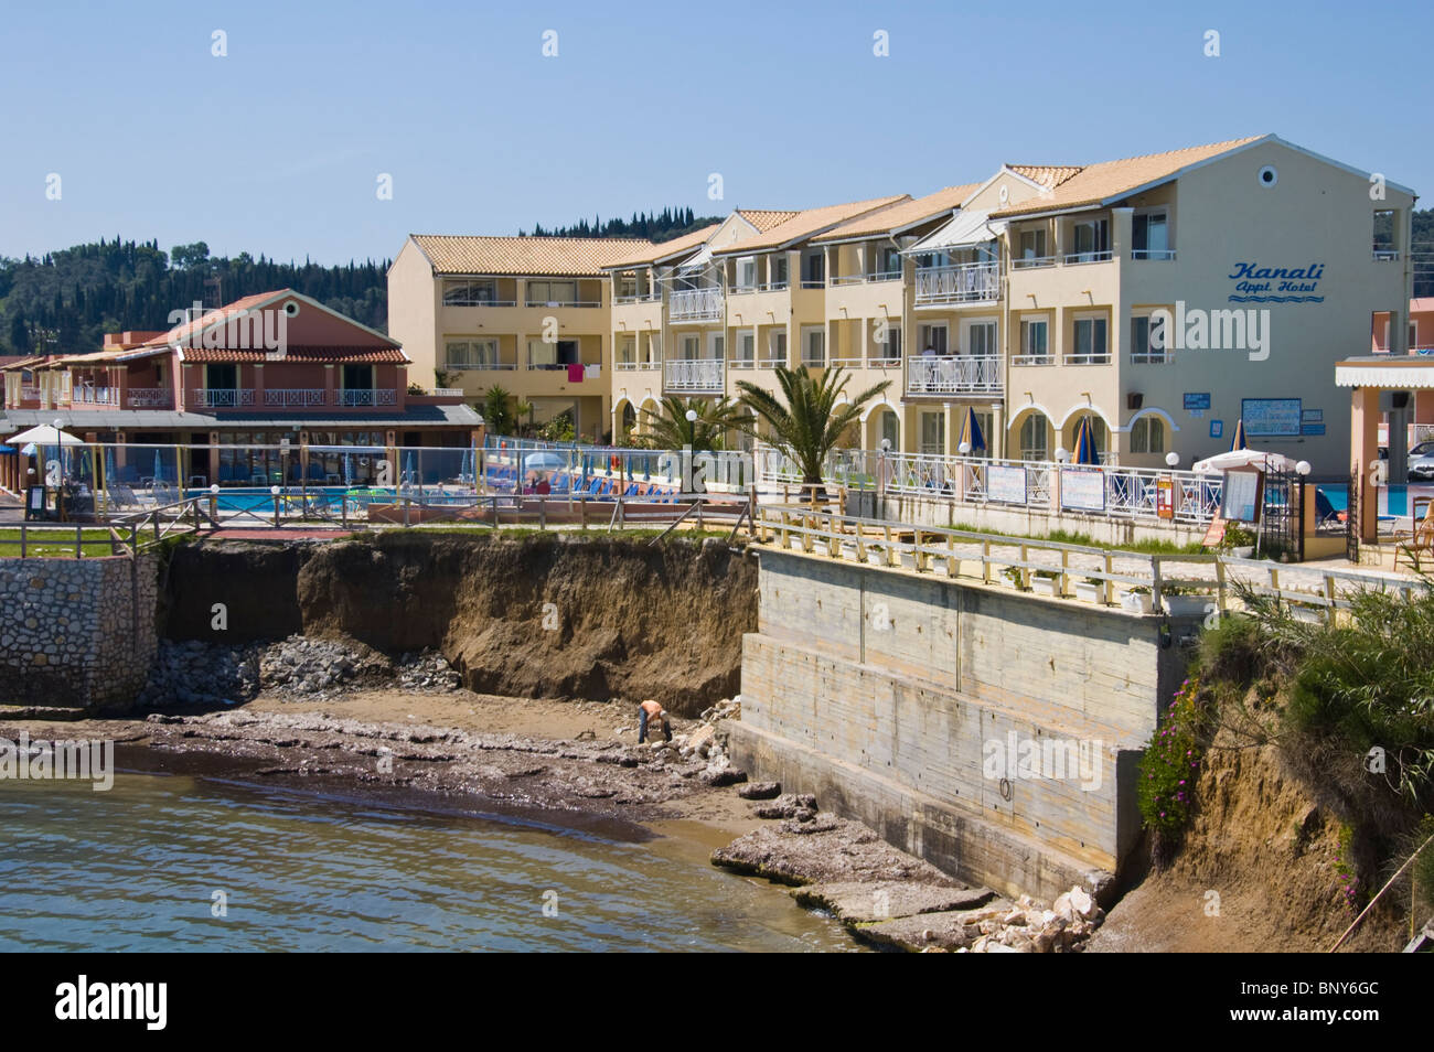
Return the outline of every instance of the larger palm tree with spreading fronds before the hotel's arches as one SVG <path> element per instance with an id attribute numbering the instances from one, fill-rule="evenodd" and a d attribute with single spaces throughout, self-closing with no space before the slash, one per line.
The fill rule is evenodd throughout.
<path id="1" fill-rule="evenodd" d="M 739 380 L 741 404 L 750 408 L 767 424 L 761 436 L 774 449 L 782 450 L 802 472 L 802 487 L 809 489 L 813 499 L 825 497 L 822 466 L 826 456 L 842 440 L 842 433 L 860 420 L 862 407 L 891 387 L 891 380 L 882 380 L 849 403 L 836 407 L 846 391 L 850 376 L 839 365 L 826 370 L 813 380 L 806 365 L 786 368 L 777 365 L 777 383 L 782 386 L 783 404 L 771 391 L 757 387 L 750 380 Z M 756 434 L 756 429 L 749 429 Z"/>

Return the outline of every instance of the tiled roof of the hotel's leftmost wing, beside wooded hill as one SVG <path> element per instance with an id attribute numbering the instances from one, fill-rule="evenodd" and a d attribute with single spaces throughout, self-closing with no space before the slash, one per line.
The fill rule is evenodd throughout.
<path id="1" fill-rule="evenodd" d="M 506 238 L 412 234 L 436 274 L 602 275 L 614 259 L 645 251 L 640 238 Z"/>

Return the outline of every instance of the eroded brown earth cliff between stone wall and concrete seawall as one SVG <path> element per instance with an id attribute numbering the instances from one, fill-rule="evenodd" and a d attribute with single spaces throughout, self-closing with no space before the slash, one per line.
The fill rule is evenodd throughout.
<path id="1" fill-rule="evenodd" d="M 174 639 L 294 632 L 437 648 L 473 691 L 657 698 L 694 715 L 739 691 L 756 559 L 685 539 L 381 535 L 176 549 Z M 225 626 L 215 628 L 215 603 Z"/>

